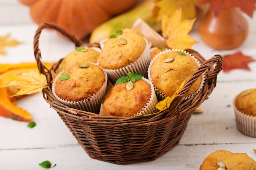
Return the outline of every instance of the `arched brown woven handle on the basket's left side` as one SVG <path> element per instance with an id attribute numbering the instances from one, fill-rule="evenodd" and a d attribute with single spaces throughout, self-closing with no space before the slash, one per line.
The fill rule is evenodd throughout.
<path id="1" fill-rule="evenodd" d="M 75 47 L 83 46 L 83 42 L 81 40 L 77 40 L 73 35 L 70 35 L 64 29 L 62 29 L 61 27 L 59 27 L 58 25 L 56 25 L 54 23 L 43 23 L 40 26 L 38 26 L 38 29 L 36 30 L 36 34 L 34 36 L 34 55 L 36 58 L 39 72 L 43 73 L 46 76 L 51 76 L 51 74 L 48 74 L 49 70 L 45 66 L 43 66 L 43 64 L 41 62 L 41 52 L 39 49 L 39 38 L 40 38 L 40 34 L 43 29 L 54 29 L 54 30 L 58 31 L 59 33 L 64 35 L 64 37 L 66 37 L 69 40 L 71 40 L 72 42 L 74 42 Z"/>

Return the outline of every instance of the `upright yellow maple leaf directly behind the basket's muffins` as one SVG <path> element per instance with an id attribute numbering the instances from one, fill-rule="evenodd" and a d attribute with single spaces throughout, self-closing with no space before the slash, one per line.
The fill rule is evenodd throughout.
<path id="1" fill-rule="evenodd" d="M 163 14 L 162 35 L 166 45 L 171 49 L 191 49 L 191 46 L 198 43 L 189 36 L 195 18 L 192 20 L 181 20 L 182 9 L 177 9 L 170 16 Z"/>

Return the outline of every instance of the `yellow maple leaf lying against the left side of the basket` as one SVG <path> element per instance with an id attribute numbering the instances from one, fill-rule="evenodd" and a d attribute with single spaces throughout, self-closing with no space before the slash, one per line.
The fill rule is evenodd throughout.
<path id="1" fill-rule="evenodd" d="M 7 85 L 0 86 L 0 88 L 8 86 L 18 86 L 20 88 L 15 95 L 9 97 L 42 92 L 43 88 L 47 87 L 46 77 L 42 73 L 39 74 L 35 71 L 29 71 L 28 73 L 21 73 L 17 76 L 20 77 L 20 80 L 14 80 Z"/>

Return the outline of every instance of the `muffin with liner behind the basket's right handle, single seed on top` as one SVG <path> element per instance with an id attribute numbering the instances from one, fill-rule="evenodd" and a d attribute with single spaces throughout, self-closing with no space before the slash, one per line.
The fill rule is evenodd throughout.
<path id="1" fill-rule="evenodd" d="M 158 99 L 172 96 L 185 79 L 191 78 L 199 65 L 194 56 L 186 52 L 169 49 L 159 53 L 148 67 L 148 79 L 153 82 Z M 185 97 L 189 98 L 198 93 L 202 84 L 201 75 Z"/>

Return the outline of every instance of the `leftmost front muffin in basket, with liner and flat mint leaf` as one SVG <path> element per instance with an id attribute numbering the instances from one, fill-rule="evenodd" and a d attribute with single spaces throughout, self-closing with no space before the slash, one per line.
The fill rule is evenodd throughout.
<path id="1" fill-rule="evenodd" d="M 99 66 L 92 63 L 76 63 L 56 76 L 52 92 L 67 106 L 95 113 L 99 112 L 106 87 L 107 75 Z"/>

